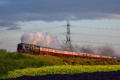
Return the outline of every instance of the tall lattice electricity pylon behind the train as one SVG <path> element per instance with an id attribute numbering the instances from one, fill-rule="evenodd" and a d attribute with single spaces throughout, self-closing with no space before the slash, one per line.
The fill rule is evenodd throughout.
<path id="1" fill-rule="evenodd" d="M 70 33 L 70 23 L 69 20 L 67 20 L 67 34 L 66 34 L 66 44 L 68 50 L 72 51 L 72 44 L 71 44 L 71 33 Z"/>

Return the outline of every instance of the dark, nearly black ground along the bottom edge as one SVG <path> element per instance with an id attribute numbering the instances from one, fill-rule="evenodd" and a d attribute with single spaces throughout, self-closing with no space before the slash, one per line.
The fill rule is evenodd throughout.
<path id="1" fill-rule="evenodd" d="M 120 80 L 120 71 L 117 72 L 96 72 L 73 75 L 46 75 L 46 76 L 23 76 L 7 80 Z"/>

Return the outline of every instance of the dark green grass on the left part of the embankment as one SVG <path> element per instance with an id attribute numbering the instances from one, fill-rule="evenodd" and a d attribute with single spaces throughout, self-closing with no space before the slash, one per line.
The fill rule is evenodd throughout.
<path id="1" fill-rule="evenodd" d="M 18 53 L 4 52 L 0 53 L 0 74 L 5 74 L 14 69 L 23 69 L 29 67 L 41 67 L 54 65 L 50 62 L 35 59 L 30 56 Z"/>

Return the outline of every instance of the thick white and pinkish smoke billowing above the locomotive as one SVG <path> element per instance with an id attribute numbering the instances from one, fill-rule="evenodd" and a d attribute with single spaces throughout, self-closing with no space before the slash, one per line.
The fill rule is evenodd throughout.
<path id="1" fill-rule="evenodd" d="M 61 49 L 58 40 L 53 38 L 50 34 L 44 32 L 24 33 L 21 37 L 21 43 Z"/>

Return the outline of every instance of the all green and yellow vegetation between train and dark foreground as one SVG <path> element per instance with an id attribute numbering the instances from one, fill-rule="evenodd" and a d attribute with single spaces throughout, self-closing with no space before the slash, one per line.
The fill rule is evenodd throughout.
<path id="1" fill-rule="evenodd" d="M 73 57 L 63 57 L 63 56 L 50 56 L 50 55 L 30 55 L 30 54 L 22 54 L 22 53 L 17 53 L 17 52 L 6 52 L 4 50 L 0 50 L 0 78 L 6 75 L 7 77 L 8 76 L 13 77 L 12 74 L 13 73 L 16 74 L 16 71 L 18 71 L 18 73 L 19 71 L 23 71 L 23 73 L 20 72 L 21 75 L 16 74 L 15 77 L 22 76 L 22 75 L 29 75 L 31 73 L 29 72 L 29 69 L 31 69 L 33 73 L 34 71 L 38 70 L 38 73 L 34 75 L 37 75 L 37 74 L 43 75 L 47 73 L 48 74 L 51 74 L 51 73 L 73 74 L 77 72 L 76 71 L 77 69 L 79 69 L 79 73 L 82 73 L 80 71 L 81 69 L 89 71 L 91 69 L 93 70 L 96 69 L 96 67 L 97 67 L 96 71 L 98 71 L 100 67 L 97 65 L 101 65 L 101 68 L 102 66 L 104 68 L 112 67 L 112 69 L 109 69 L 109 68 L 108 68 L 109 70 L 106 69 L 107 71 L 111 71 L 111 70 L 119 70 L 119 67 L 120 67 L 119 64 L 120 62 L 117 61 L 116 59 L 112 59 L 112 60 L 102 59 L 101 60 L 101 59 L 85 59 L 85 58 L 73 58 Z M 84 66 L 81 66 L 81 65 L 84 65 Z M 106 67 L 105 65 L 106 66 L 110 65 L 110 66 Z M 102 70 L 101 68 L 100 70 Z M 24 74 L 24 70 L 25 70 L 25 73 L 28 70 L 28 73 Z M 42 70 L 45 73 L 42 72 L 43 74 L 41 74 L 39 70 Z M 53 72 L 51 72 L 51 70 L 53 70 Z M 89 71 L 89 72 L 92 72 L 92 71 Z"/>

